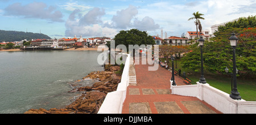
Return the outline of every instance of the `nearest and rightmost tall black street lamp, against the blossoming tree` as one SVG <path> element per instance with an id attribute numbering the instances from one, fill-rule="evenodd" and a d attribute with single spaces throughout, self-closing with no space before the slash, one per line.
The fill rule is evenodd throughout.
<path id="1" fill-rule="evenodd" d="M 229 94 L 229 97 L 233 98 L 234 100 L 241 100 L 240 93 L 237 90 L 237 72 L 236 72 L 236 46 L 237 46 L 238 38 L 235 36 L 235 33 L 232 33 L 232 36 L 229 37 L 230 45 L 233 48 L 233 85 L 234 88 Z"/>

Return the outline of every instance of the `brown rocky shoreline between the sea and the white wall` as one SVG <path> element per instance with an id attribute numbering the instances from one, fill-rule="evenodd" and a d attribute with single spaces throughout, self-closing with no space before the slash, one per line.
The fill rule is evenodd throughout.
<path id="1" fill-rule="evenodd" d="M 83 93 L 72 104 L 69 104 L 64 109 L 52 108 L 46 109 L 30 109 L 24 114 L 92 114 L 98 113 L 106 94 L 117 89 L 118 83 L 121 81 L 121 76 L 115 74 L 120 70 L 119 66 L 105 65 L 105 71 L 91 72 L 82 79 L 98 79 L 92 87 L 84 86 L 70 90 L 69 92 Z M 78 80 L 79 81 L 79 80 Z M 76 83 L 76 82 L 75 82 Z M 76 86 L 76 84 L 71 84 Z"/>

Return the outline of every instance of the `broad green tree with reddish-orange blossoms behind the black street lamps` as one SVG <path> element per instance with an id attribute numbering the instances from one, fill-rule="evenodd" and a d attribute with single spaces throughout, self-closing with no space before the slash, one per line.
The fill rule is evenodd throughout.
<path id="1" fill-rule="evenodd" d="M 242 76 L 256 75 L 256 28 L 229 28 L 226 31 L 214 33 L 216 37 L 205 41 L 203 46 L 204 69 L 210 72 L 224 73 L 228 67 L 232 72 L 233 52 L 228 38 L 235 32 L 238 37 L 236 48 L 237 69 Z M 183 67 L 200 71 L 200 48 L 198 43 L 190 46 L 191 52 L 183 59 Z"/>

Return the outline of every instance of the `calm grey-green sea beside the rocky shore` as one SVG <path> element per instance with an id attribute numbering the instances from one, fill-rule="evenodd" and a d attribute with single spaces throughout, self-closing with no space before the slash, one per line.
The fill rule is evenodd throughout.
<path id="1" fill-rule="evenodd" d="M 97 51 L 0 52 L 0 113 L 19 114 L 29 109 L 63 108 L 79 93 L 71 83 L 92 71 L 104 70 Z M 92 80 L 80 84 L 92 85 Z"/>

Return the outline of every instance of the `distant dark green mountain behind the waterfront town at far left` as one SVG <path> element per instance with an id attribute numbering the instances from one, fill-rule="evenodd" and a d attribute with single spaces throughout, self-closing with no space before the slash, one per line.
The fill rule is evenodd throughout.
<path id="1" fill-rule="evenodd" d="M 31 33 L 31 32 L 19 32 L 19 31 L 3 31 L 0 30 L 0 42 L 14 42 L 21 40 L 32 40 L 32 39 L 51 39 L 51 37 L 42 33 Z"/>

